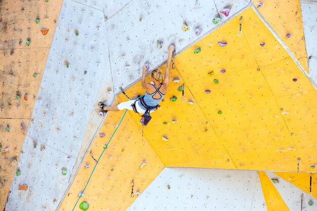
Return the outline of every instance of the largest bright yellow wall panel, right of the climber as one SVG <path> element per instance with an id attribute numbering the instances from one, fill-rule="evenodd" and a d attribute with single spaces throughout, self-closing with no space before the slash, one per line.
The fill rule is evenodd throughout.
<path id="1" fill-rule="evenodd" d="M 194 54 L 197 48 L 201 52 Z M 299 171 L 312 171 L 314 87 L 252 8 L 177 55 L 175 63 L 171 76 L 180 82 L 171 82 L 145 129 L 167 166 L 297 171 L 300 157 Z M 177 88 L 183 83 L 181 101 Z M 129 94 L 143 92 L 137 84 Z"/>

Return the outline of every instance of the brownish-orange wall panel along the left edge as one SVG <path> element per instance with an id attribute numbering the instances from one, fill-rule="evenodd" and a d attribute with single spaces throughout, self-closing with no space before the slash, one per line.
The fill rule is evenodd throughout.
<path id="1" fill-rule="evenodd" d="M 0 1 L 1 210 L 4 209 L 13 176 L 20 174 L 17 163 L 61 5 L 60 0 L 50 3 L 43 0 L 36 4 Z M 43 35 L 43 29 L 49 29 L 48 34 Z"/>

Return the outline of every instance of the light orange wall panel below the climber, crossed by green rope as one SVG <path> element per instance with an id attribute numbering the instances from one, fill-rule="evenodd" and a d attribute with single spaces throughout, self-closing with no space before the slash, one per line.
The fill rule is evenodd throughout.
<path id="1" fill-rule="evenodd" d="M 109 113 L 59 210 L 80 210 L 78 207 L 83 201 L 87 201 L 92 210 L 126 210 L 163 170 L 164 164 L 147 139 L 142 140 L 141 131 L 132 116 L 127 113 L 123 117 L 124 113 Z M 119 125 L 122 117 L 123 121 Z M 114 136 L 104 150 L 104 145 L 113 133 Z M 90 152 L 98 160 L 103 150 L 93 171 L 96 162 Z M 84 195 L 78 199 L 86 184 Z"/>

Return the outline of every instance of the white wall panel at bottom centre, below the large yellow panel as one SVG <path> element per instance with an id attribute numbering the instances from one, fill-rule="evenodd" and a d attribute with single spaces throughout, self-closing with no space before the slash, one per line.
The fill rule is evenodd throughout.
<path id="1" fill-rule="evenodd" d="M 256 171 L 164 168 L 132 210 L 267 210 Z"/>

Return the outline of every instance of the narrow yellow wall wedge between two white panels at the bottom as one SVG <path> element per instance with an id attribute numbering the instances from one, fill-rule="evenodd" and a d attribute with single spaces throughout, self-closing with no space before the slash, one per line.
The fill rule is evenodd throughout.
<path id="1" fill-rule="evenodd" d="M 271 180 L 265 174 L 265 172 L 258 172 L 258 174 L 261 181 L 267 211 L 290 210 L 284 202 L 282 196 L 279 194 L 278 190 L 276 190 Z"/>

